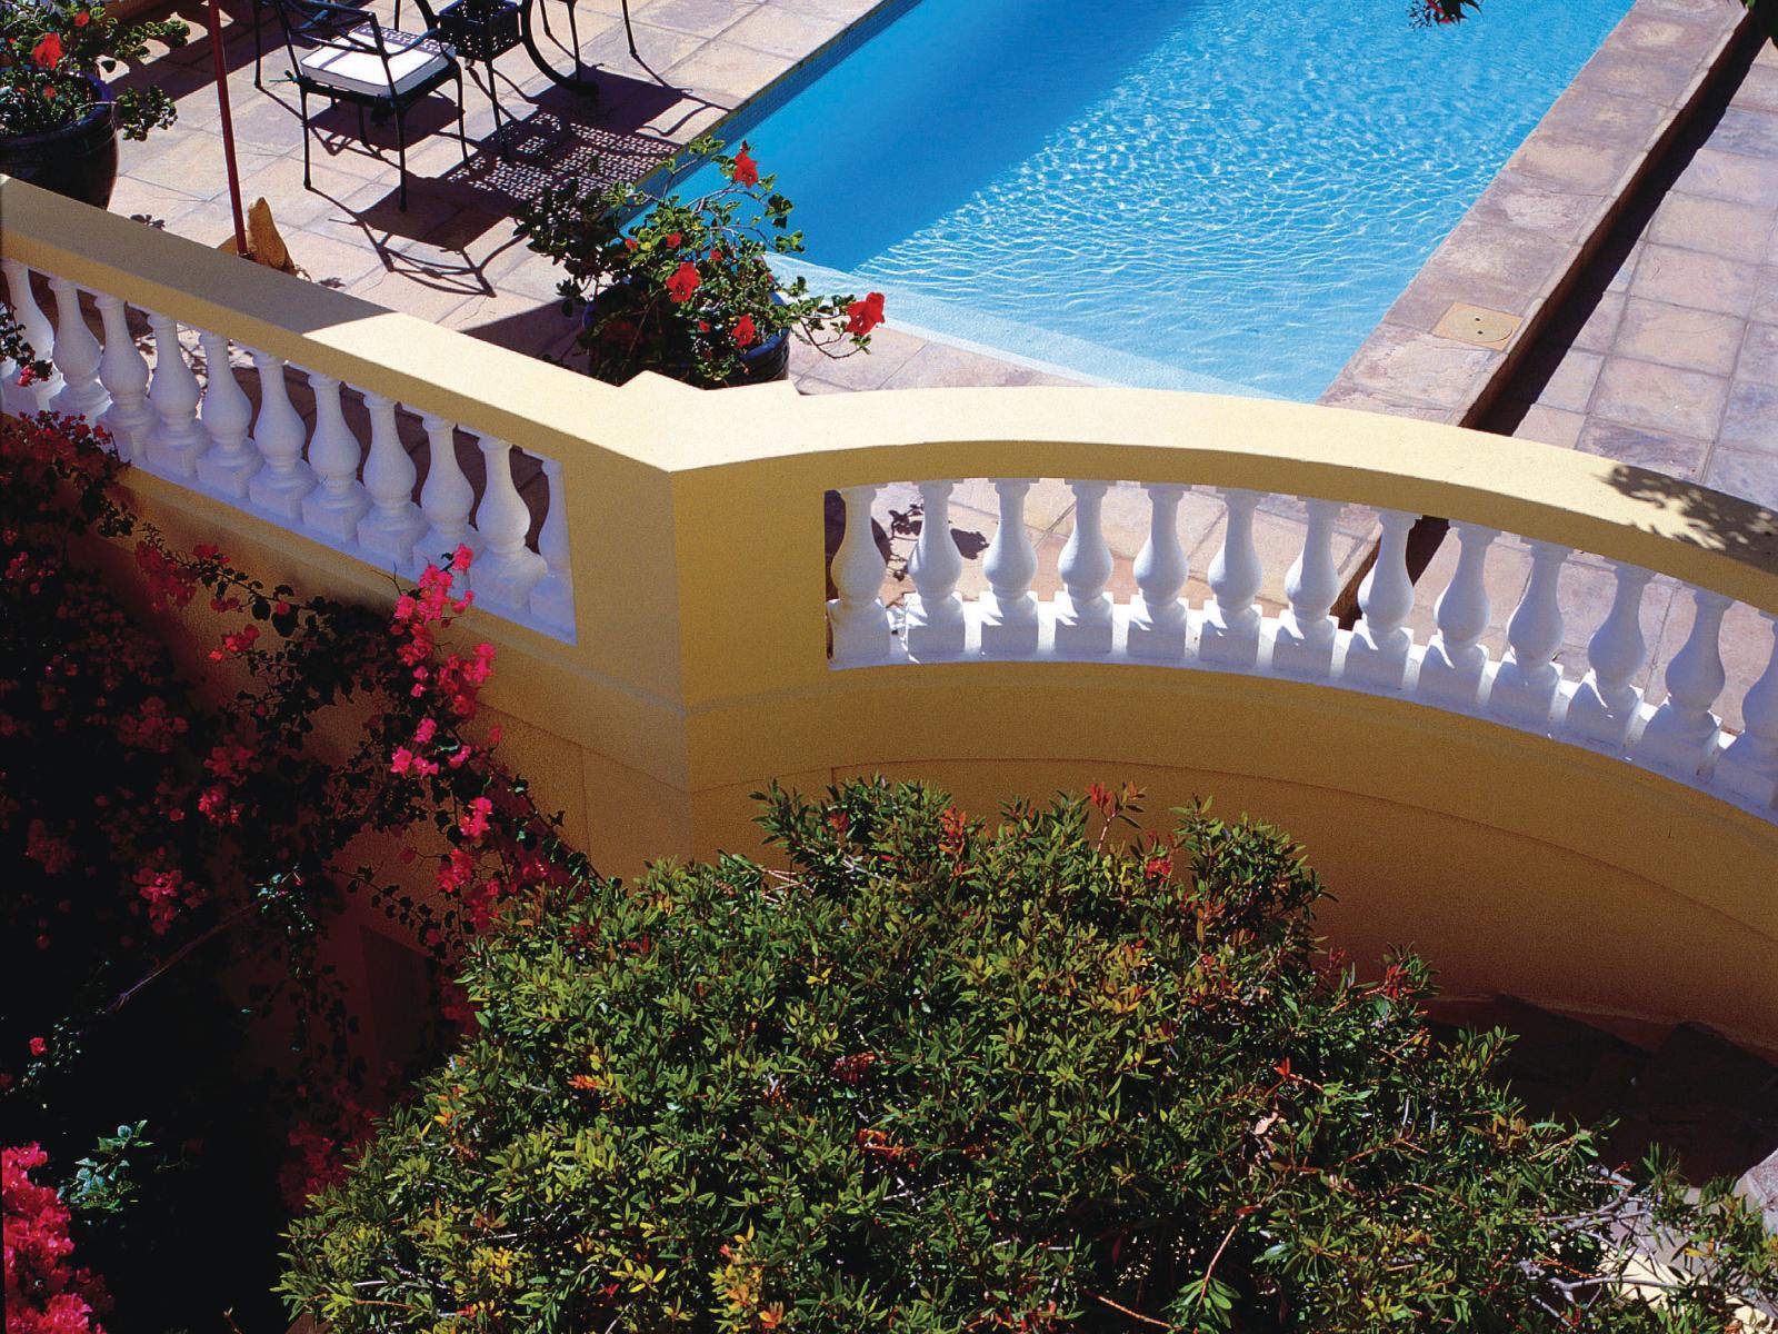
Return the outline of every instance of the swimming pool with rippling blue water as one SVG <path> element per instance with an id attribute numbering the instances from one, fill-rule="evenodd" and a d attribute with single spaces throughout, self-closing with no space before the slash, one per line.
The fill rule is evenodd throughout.
<path id="1" fill-rule="evenodd" d="M 724 135 L 891 320 L 1312 400 L 1627 9 L 919 0 Z"/>

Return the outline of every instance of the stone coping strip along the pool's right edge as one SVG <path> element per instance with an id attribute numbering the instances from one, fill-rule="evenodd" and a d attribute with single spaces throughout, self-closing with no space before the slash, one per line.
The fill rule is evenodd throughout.
<path id="1" fill-rule="evenodd" d="M 1748 39 L 1739 0 L 1636 0 L 1319 402 L 1478 425 Z"/>

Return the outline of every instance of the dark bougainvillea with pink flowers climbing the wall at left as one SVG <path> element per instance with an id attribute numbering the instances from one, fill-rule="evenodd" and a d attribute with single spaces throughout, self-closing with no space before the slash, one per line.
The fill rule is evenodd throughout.
<path id="1" fill-rule="evenodd" d="M 139 1195 L 92 1165 L 101 1151 L 62 1199 L 119 1204 L 82 1252 L 132 1323 L 172 1329 L 194 1293 L 164 1274 L 199 1243 L 263 1300 L 279 1177 L 300 1204 L 380 1106 L 327 960 L 347 902 L 425 950 L 436 1017 L 461 1023 L 466 939 L 574 863 L 478 722 L 493 647 L 448 640 L 468 550 L 393 610 L 304 599 L 212 544 L 176 550 L 116 500 L 119 470 L 80 422 L 0 420 L 0 1142 L 71 1163 L 148 1119 L 165 1147 L 133 1154 Z M 204 688 L 164 624 L 124 610 L 89 537 L 117 544 L 165 617 L 206 612 Z M 267 1044 L 290 1049 L 274 1069 Z"/>

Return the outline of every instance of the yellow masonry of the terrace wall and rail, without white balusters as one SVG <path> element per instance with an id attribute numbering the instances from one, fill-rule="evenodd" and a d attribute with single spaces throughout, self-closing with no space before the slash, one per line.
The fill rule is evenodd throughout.
<path id="1" fill-rule="evenodd" d="M 612 390 L 0 178 L 4 254 L 564 462 L 576 644 L 498 644 L 503 749 L 610 873 L 756 850 L 749 792 L 921 777 L 990 815 L 1134 781 L 1294 834 L 1360 959 L 1414 944 L 1447 992 L 1778 1051 L 1778 824 L 1625 761 L 1406 699 L 1127 663 L 836 671 L 823 493 L 942 477 L 1248 487 L 1502 528 L 1778 610 L 1778 516 L 1542 445 L 1335 409 L 1124 390 L 800 398 Z M 391 580 L 140 470 L 146 512 L 265 578 Z M 194 633 L 208 633 L 194 628 Z"/>

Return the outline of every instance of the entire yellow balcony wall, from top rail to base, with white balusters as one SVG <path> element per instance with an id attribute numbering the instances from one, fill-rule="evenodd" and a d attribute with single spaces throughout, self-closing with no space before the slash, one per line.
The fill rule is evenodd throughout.
<path id="1" fill-rule="evenodd" d="M 1131 779 L 1156 824 L 1205 795 L 1291 831 L 1339 896 L 1328 932 L 1360 957 L 1415 944 L 1458 996 L 1700 1019 L 1778 1049 L 1767 510 L 1604 459 L 1294 404 L 1113 390 L 706 395 L 658 377 L 613 390 L 14 181 L 0 180 L 0 210 L 12 301 L 21 285 L 36 292 L 57 347 L 59 382 L 39 397 L 119 427 L 137 464 L 128 486 L 167 528 L 220 541 L 265 576 L 389 601 L 391 567 L 411 573 L 416 559 L 391 534 L 412 544 L 420 526 L 464 525 L 484 548 L 485 608 L 464 633 L 500 646 L 491 699 L 507 751 L 601 868 L 754 848 L 747 793 L 772 777 L 926 777 L 978 813 L 1013 793 Z M 94 293 L 114 304 L 110 324 Z M 183 345 L 178 366 L 155 359 L 148 382 L 148 361 L 130 361 L 137 340 L 107 336 L 139 333 L 117 324 L 132 309 L 162 317 L 153 342 L 165 349 L 167 318 L 208 338 Z M 228 377 L 199 366 L 222 356 Z M 188 386 L 187 363 L 206 370 Z M 247 477 L 290 462 L 288 423 L 267 425 L 267 375 L 306 416 L 315 489 L 300 503 Z M 345 386 L 343 434 L 316 411 L 332 382 Z M 12 393 L 11 411 L 34 406 Z M 236 429 L 244 413 L 251 430 Z M 473 523 L 450 487 L 430 486 L 459 462 Z M 1076 478 L 1088 503 L 1081 478 L 1149 487 L 1156 550 L 1138 562 L 1138 596 L 1101 599 L 1090 534 L 1063 560 L 1072 601 L 1031 594 L 1010 478 L 1038 477 Z M 997 478 L 1006 519 L 989 553 L 994 592 L 957 605 L 958 644 L 953 631 L 921 639 L 919 612 L 909 635 L 861 541 L 877 487 L 942 498 L 939 478 Z M 1232 534 L 1213 598 L 1189 608 L 1166 550 L 1168 496 L 1188 484 L 1218 489 Z M 834 560 L 841 598 L 827 603 L 823 496 L 836 489 L 853 521 Z M 1312 532 L 1289 610 L 1253 605 L 1262 562 L 1237 518 L 1257 494 L 1383 516 L 1358 626 L 1326 621 Z M 1469 525 L 1476 542 L 1447 587 L 1406 587 L 1398 537 L 1421 514 Z M 1494 530 L 1529 542 L 1545 571 L 1515 610 L 1508 662 L 1470 647 Z M 1570 551 L 1623 571 L 1616 614 L 1566 592 Z M 926 560 L 914 585 L 916 607 L 942 623 L 941 566 Z M 1703 612 L 1668 667 L 1670 694 L 1648 699 L 1616 687 L 1646 656 L 1632 596 L 1645 573 Z M 1415 603 L 1437 635 L 1408 635 Z M 1751 665 L 1732 653 L 1725 667 L 1712 621 L 1725 610 L 1766 631 Z M 1584 678 L 1550 662 L 1575 617 L 1597 631 Z M 1307 647 L 1293 658 L 1280 639 Z M 1435 658 L 1451 669 L 1440 676 Z M 1582 717 L 1574 701 L 1593 687 L 1614 703 Z"/>

